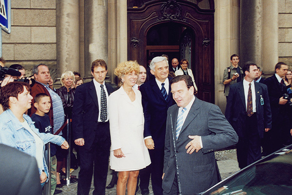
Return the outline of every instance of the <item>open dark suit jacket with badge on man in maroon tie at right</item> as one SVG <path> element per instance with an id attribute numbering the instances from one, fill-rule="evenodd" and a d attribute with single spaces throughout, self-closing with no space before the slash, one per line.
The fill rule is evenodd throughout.
<path id="1" fill-rule="evenodd" d="M 264 137 L 265 128 L 272 128 L 272 113 L 270 108 L 270 100 L 268 89 L 265 84 L 255 83 L 256 91 L 256 119 L 257 131 L 259 137 Z M 263 99 L 261 105 L 260 99 Z M 243 124 L 246 122 L 246 104 L 243 89 L 243 81 L 230 86 L 230 91 L 227 99 L 225 116 L 233 126 L 239 137 L 245 137 Z"/>

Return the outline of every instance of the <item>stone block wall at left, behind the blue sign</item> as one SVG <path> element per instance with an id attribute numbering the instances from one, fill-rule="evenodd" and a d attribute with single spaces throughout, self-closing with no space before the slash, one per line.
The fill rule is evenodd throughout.
<path id="1" fill-rule="evenodd" d="M 2 31 L 2 57 L 6 66 L 23 65 L 26 76 L 45 63 L 56 78 L 55 0 L 11 0 L 11 34 Z"/>

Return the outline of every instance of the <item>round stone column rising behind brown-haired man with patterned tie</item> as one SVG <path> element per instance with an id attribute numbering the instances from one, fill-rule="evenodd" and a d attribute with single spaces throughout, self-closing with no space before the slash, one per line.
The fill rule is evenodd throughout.
<path id="1" fill-rule="evenodd" d="M 104 59 L 108 63 L 107 0 L 84 0 L 85 77 L 91 77 L 91 63 Z"/>

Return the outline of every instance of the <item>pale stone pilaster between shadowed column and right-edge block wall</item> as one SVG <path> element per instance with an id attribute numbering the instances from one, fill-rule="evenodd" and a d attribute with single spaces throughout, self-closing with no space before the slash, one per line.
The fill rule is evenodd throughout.
<path id="1" fill-rule="evenodd" d="M 263 0 L 263 71 L 274 73 L 278 62 L 278 1 Z"/>

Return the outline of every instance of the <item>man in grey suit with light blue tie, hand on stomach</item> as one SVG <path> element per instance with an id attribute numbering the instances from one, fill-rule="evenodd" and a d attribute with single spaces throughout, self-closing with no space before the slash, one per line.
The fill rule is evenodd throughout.
<path id="1" fill-rule="evenodd" d="M 218 106 L 194 96 L 190 76 L 170 83 L 177 105 L 167 111 L 164 195 L 195 195 L 221 180 L 214 151 L 236 144 L 238 137 Z"/>

